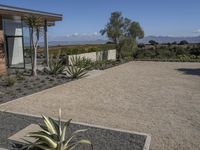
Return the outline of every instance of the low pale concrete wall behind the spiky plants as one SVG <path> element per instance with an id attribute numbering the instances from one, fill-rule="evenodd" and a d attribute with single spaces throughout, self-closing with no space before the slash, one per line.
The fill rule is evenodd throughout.
<path id="1" fill-rule="evenodd" d="M 106 50 L 106 51 L 98 51 L 98 52 L 91 52 L 91 53 L 83 53 L 83 54 L 78 54 L 78 55 L 69 55 L 69 63 L 70 59 L 73 56 L 78 56 L 78 57 L 85 57 L 88 59 L 91 59 L 92 61 L 98 61 L 98 60 L 116 60 L 116 50 Z"/>

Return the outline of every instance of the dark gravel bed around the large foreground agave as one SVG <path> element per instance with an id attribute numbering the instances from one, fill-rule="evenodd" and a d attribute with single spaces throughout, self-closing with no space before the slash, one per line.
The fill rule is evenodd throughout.
<path id="1" fill-rule="evenodd" d="M 0 147 L 8 147 L 10 136 L 32 123 L 41 123 L 41 118 L 17 115 L 7 112 L 0 112 Z M 70 131 L 77 129 L 88 129 L 80 137 L 89 139 L 94 150 L 142 150 L 146 136 L 114 131 L 103 128 L 90 127 L 72 123 Z M 81 146 L 79 150 L 90 149 L 88 146 Z"/>

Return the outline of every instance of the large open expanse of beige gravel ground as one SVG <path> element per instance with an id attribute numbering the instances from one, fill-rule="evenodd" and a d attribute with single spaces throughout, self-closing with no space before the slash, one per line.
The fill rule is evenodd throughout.
<path id="1" fill-rule="evenodd" d="M 177 70 L 178 69 L 178 70 Z M 0 106 L 149 133 L 153 150 L 200 149 L 200 63 L 130 62 Z"/>

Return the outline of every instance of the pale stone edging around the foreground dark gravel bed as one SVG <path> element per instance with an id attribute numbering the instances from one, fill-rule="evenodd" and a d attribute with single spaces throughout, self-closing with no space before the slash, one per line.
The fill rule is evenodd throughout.
<path id="1" fill-rule="evenodd" d="M 13 113 L 13 114 L 17 114 L 17 115 L 24 115 L 24 116 L 41 118 L 41 116 L 39 116 L 39 115 L 33 115 L 33 114 L 27 114 L 27 113 L 19 113 L 19 112 L 15 112 L 15 111 L 1 111 L 0 110 L 0 112 L 7 112 L 7 113 Z M 53 117 L 53 119 L 55 119 L 55 118 Z M 62 119 L 62 121 L 66 122 L 68 120 Z M 146 134 L 146 133 L 142 133 L 142 132 L 135 132 L 135 131 L 130 131 L 130 130 L 124 130 L 124 129 L 109 128 L 109 127 L 105 127 L 105 126 L 101 126 L 101 125 L 94 125 L 94 124 L 76 122 L 76 121 L 72 121 L 71 123 L 78 124 L 78 125 L 83 125 L 83 126 L 88 126 L 88 127 L 101 128 L 101 129 L 106 129 L 106 130 L 111 130 L 111 131 L 118 131 L 118 132 L 123 132 L 123 133 L 130 133 L 130 134 L 137 134 L 137 135 L 141 135 L 141 136 L 146 136 L 146 140 L 145 140 L 145 144 L 144 144 L 143 150 L 149 150 L 150 149 L 150 142 L 151 142 L 151 135 L 150 134 Z"/>

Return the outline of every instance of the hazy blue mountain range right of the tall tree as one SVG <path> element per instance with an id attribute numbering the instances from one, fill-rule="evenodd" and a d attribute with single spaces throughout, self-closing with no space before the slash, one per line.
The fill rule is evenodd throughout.
<path id="1" fill-rule="evenodd" d="M 200 36 L 196 37 L 169 37 L 169 36 L 146 36 L 143 39 L 138 40 L 139 43 L 147 44 L 150 40 L 154 40 L 158 43 L 179 43 L 182 40 L 186 40 L 189 43 L 200 43 Z"/>

